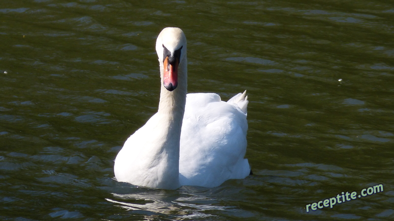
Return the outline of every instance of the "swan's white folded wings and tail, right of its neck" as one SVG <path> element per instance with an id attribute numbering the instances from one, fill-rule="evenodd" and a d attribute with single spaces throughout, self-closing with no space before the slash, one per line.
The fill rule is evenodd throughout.
<path id="1" fill-rule="evenodd" d="M 180 140 L 181 185 L 216 187 L 250 173 L 246 152 L 247 97 L 223 102 L 214 93 L 188 94 Z"/>

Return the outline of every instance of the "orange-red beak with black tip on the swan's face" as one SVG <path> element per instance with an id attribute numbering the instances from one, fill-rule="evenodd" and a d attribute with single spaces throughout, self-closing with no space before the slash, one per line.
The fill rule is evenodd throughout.
<path id="1" fill-rule="evenodd" d="M 176 86 L 178 86 L 179 59 L 178 57 L 170 57 L 168 60 L 168 56 L 166 56 L 163 65 L 164 65 L 163 85 L 165 89 L 167 89 L 168 91 L 173 91 L 175 90 Z"/>

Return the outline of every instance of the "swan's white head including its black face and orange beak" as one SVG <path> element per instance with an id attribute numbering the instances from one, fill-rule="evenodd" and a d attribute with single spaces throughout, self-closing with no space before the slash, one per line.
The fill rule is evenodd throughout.
<path id="1" fill-rule="evenodd" d="M 163 67 L 163 85 L 168 91 L 178 86 L 178 66 L 186 61 L 186 36 L 180 28 L 164 28 L 156 40 L 156 52 Z"/>

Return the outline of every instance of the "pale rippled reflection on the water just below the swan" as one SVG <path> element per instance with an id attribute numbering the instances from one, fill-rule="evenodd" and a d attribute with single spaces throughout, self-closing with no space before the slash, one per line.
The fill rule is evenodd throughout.
<path id="1" fill-rule="evenodd" d="M 210 214 L 212 211 L 236 210 L 234 206 L 220 205 L 220 200 L 203 194 L 203 192 L 209 192 L 203 189 L 198 187 L 182 187 L 178 191 L 167 191 L 133 188 L 128 189 L 128 191 L 137 193 L 112 193 L 114 198 L 106 198 L 106 200 L 126 211 L 132 211 L 131 214 L 133 215 L 144 215 L 147 219 L 147 216 L 160 215 L 167 219 L 193 220 L 215 217 Z M 196 191 L 199 194 L 193 194 Z"/>

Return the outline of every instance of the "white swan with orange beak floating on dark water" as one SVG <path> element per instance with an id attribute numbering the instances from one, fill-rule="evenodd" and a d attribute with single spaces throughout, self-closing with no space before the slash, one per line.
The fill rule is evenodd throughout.
<path id="1" fill-rule="evenodd" d="M 127 139 L 115 177 L 133 185 L 216 187 L 250 173 L 246 152 L 247 96 L 228 102 L 213 93 L 187 94 L 186 37 L 164 28 L 156 41 L 161 74 L 159 110 Z"/>

